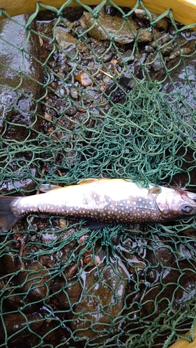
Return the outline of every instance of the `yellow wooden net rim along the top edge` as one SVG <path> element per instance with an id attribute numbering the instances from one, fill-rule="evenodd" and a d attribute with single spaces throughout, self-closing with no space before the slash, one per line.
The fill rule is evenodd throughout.
<path id="1" fill-rule="evenodd" d="M 117 6 L 133 7 L 136 0 L 113 0 Z M 40 3 L 48 6 L 60 8 L 65 0 L 42 0 Z M 82 0 L 85 5 L 98 5 L 100 0 Z M 149 11 L 162 14 L 171 9 L 176 22 L 185 25 L 196 22 L 196 0 L 143 0 L 144 6 Z M 73 0 L 69 6 L 77 6 Z M 0 8 L 5 10 L 10 16 L 21 15 L 22 13 L 33 13 L 36 10 L 36 0 L 0 0 Z M 43 7 L 41 7 L 43 9 Z M 2 19 L 4 16 L 1 16 Z"/>

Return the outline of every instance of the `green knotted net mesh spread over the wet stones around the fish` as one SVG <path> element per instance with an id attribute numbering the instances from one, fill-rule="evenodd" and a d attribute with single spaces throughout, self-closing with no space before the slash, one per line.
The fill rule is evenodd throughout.
<path id="1" fill-rule="evenodd" d="M 107 2 L 4 13 L 2 195 L 87 177 L 194 191 L 194 25 Z M 33 214 L 0 235 L 0 347 L 193 340 L 195 219 L 97 227 Z"/>

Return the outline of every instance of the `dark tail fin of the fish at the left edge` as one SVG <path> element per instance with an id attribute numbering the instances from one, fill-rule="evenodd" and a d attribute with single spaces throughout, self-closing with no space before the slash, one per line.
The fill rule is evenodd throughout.
<path id="1" fill-rule="evenodd" d="M 0 230 L 2 232 L 8 232 L 21 219 L 21 216 L 17 216 L 12 209 L 13 203 L 18 198 L 20 197 L 0 197 Z"/>

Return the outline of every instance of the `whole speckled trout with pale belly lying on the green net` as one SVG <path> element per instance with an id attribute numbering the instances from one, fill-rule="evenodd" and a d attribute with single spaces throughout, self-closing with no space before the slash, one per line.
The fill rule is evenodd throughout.
<path id="1" fill-rule="evenodd" d="M 196 215 L 196 193 L 132 180 L 84 179 L 66 187 L 40 185 L 32 196 L 0 197 L 0 228 L 8 232 L 29 214 L 53 214 L 100 223 L 159 223 Z"/>

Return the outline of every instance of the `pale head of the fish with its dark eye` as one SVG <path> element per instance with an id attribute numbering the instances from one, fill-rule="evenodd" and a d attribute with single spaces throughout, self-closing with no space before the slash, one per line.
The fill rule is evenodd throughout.
<path id="1" fill-rule="evenodd" d="M 156 204 L 167 219 L 181 219 L 196 216 L 196 195 L 188 191 L 178 191 L 164 187 L 156 196 Z"/>

